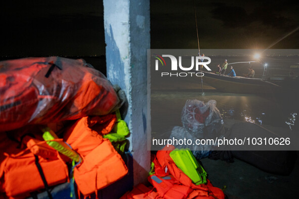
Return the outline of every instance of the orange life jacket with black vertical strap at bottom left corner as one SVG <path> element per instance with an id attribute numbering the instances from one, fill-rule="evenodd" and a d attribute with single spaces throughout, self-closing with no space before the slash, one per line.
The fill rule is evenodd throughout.
<path id="1" fill-rule="evenodd" d="M 68 180 L 67 167 L 61 158 L 46 160 L 27 149 L 16 155 L 7 154 L 7 158 L 2 164 L 3 170 L 0 171 L 0 179 L 4 182 L 4 191 L 10 198 L 24 198 L 30 196 L 32 191 Z M 37 164 L 41 167 L 42 174 Z M 41 175 L 44 175 L 47 185 Z"/>

